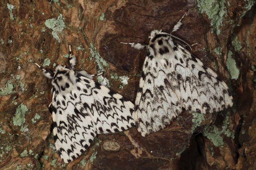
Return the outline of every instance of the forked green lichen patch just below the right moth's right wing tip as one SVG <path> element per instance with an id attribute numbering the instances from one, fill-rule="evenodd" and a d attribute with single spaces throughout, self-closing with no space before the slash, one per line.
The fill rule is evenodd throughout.
<path id="1" fill-rule="evenodd" d="M 227 116 L 225 117 L 223 121 L 223 126 L 220 128 L 216 126 L 209 126 L 207 125 L 204 128 L 204 135 L 212 141 L 214 146 L 216 147 L 223 147 L 224 141 L 223 141 L 223 135 L 226 135 L 227 137 L 234 138 L 234 132 L 229 129 L 230 122 L 229 122 L 230 113 L 227 113 Z"/>

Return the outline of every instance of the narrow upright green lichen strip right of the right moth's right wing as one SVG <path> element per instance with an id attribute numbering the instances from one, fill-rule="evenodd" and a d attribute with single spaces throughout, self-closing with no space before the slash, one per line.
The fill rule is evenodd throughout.
<path id="1" fill-rule="evenodd" d="M 239 77 L 239 69 L 236 66 L 236 61 L 232 58 L 233 53 L 231 51 L 228 52 L 227 54 L 227 69 L 230 72 L 231 79 L 238 79 Z"/>

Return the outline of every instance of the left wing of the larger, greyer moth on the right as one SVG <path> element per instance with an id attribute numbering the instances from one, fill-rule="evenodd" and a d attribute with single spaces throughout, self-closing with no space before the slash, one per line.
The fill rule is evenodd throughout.
<path id="1" fill-rule="evenodd" d="M 169 81 L 169 64 L 167 60 L 145 58 L 134 110 L 135 124 L 142 136 L 163 129 L 181 112 L 180 92 L 175 91 L 177 82 Z"/>

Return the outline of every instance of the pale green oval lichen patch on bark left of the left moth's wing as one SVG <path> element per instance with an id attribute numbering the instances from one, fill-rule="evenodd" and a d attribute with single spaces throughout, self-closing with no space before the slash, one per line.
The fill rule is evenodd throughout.
<path id="1" fill-rule="evenodd" d="M 25 113 L 28 111 L 28 108 L 24 104 L 20 104 L 20 106 L 17 107 L 15 116 L 12 117 L 13 125 L 15 126 L 23 126 L 23 123 L 25 122 Z"/>

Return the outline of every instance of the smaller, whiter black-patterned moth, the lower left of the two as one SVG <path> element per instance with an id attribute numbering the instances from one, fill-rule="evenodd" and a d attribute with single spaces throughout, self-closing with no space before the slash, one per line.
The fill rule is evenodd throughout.
<path id="1" fill-rule="evenodd" d="M 134 104 L 93 81 L 94 75 L 76 71 L 71 46 L 69 51 L 67 68 L 58 65 L 52 71 L 35 63 L 44 76 L 52 79 L 52 131 L 58 155 L 65 163 L 87 150 L 97 134 L 134 126 Z"/>

